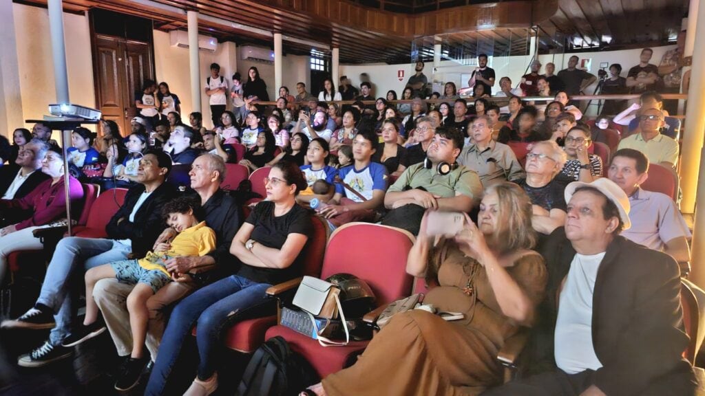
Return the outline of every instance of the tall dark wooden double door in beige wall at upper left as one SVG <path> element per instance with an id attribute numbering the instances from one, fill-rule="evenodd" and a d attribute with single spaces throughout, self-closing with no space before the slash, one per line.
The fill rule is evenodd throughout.
<path id="1" fill-rule="evenodd" d="M 152 21 L 94 10 L 91 27 L 97 108 L 128 136 L 136 94 L 141 97 L 145 80 L 154 80 Z"/>

